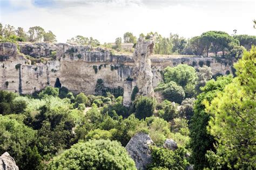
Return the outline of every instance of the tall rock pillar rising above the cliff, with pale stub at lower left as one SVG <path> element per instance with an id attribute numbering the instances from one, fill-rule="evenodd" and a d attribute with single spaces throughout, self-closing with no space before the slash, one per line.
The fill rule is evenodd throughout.
<path id="1" fill-rule="evenodd" d="M 131 94 L 132 90 L 135 86 L 138 87 L 139 95 L 143 96 L 154 96 L 154 90 L 153 90 L 153 73 L 151 71 L 151 58 L 150 55 L 152 54 L 154 49 L 154 41 L 153 40 L 145 40 L 144 38 L 139 38 L 137 45 L 135 47 L 135 51 L 133 53 L 133 60 L 134 60 L 134 66 L 133 66 L 133 72 L 132 72 L 132 78 L 133 78 L 133 86 L 130 89 L 129 93 L 124 91 L 124 105 L 129 106 L 131 103 Z M 129 84 L 126 84 L 129 86 Z M 125 89 L 124 89 L 125 90 Z M 126 96 L 127 94 L 130 94 L 130 96 Z"/>

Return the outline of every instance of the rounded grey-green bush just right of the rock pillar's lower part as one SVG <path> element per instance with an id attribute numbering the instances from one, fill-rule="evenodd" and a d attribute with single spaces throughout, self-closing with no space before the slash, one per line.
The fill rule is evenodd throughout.
<path id="1" fill-rule="evenodd" d="M 176 103 L 181 103 L 184 100 L 185 93 L 181 86 L 178 86 L 175 82 L 159 84 L 155 91 L 161 91 L 164 98 Z"/>

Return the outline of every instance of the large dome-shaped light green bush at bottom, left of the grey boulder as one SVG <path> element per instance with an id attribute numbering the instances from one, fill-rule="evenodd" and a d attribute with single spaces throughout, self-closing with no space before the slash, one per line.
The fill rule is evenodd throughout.
<path id="1" fill-rule="evenodd" d="M 134 161 L 117 141 L 90 140 L 73 145 L 54 157 L 48 169 L 136 169 Z"/>

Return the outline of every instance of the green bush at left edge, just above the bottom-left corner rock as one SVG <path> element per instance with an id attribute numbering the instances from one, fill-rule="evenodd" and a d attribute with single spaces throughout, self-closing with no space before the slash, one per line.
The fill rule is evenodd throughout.
<path id="1" fill-rule="evenodd" d="M 0 153 L 8 152 L 20 168 L 28 169 L 41 164 L 36 148 L 31 152 L 28 150 L 28 147 L 33 147 L 35 141 L 35 130 L 16 119 L 0 115 Z M 24 160 L 35 162 L 31 165 Z"/>

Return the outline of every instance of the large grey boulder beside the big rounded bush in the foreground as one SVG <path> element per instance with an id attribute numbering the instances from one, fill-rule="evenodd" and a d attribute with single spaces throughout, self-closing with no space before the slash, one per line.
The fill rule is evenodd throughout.
<path id="1" fill-rule="evenodd" d="M 150 145 L 153 144 L 153 140 L 149 134 L 137 133 L 135 134 L 129 143 L 125 146 L 130 157 L 134 160 L 137 169 L 146 169 L 148 164 L 151 164 L 151 151 Z"/>

